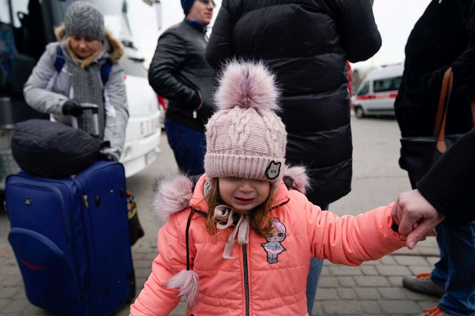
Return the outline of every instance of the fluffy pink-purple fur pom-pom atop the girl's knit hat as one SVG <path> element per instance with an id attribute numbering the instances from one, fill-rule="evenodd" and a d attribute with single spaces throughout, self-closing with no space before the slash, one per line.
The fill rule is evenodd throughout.
<path id="1" fill-rule="evenodd" d="M 213 96 L 216 107 L 262 108 L 279 111 L 280 89 L 276 75 L 262 62 L 232 59 L 219 75 L 219 87 Z"/>

